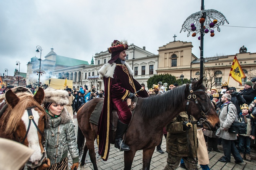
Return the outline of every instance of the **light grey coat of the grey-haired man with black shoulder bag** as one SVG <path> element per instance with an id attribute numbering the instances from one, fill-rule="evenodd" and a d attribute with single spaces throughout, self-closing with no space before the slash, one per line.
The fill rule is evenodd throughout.
<path id="1" fill-rule="evenodd" d="M 228 107 L 228 109 L 227 109 Z M 226 140 L 236 140 L 237 134 L 229 133 L 228 128 L 234 121 L 237 121 L 237 108 L 232 102 L 225 103 L 220 110 L 220 128 L 216 132 L 216 136 Z M 226 130 L 224 130 L 224 128 Z"/>

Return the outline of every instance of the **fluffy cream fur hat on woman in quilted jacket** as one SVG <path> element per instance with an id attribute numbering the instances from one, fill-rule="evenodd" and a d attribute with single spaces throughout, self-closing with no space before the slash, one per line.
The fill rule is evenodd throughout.
<path id="1" fill-rule="evenodd" d="M 60 105 L 67 105 L 69 103 L 68 100 L 68 92 L 65 90 L 56 90 L 51 87 L 48 87 L 44 90 L 44 101 L 43 104 L 46 103 L 56 103 Z"/>

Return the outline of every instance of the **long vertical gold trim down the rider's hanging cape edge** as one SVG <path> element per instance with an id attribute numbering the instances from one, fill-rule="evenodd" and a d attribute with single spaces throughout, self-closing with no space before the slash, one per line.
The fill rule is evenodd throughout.
<path id="1" fill-rule="evenodd" d="M 106 136 L 106 145 L 103 159 L 106 159 L 107 152 L 109 151 L 109 125 L 110 125 L 110 77 L 108 79 L 108 97 L 107 97 L 107 136 Z"/>

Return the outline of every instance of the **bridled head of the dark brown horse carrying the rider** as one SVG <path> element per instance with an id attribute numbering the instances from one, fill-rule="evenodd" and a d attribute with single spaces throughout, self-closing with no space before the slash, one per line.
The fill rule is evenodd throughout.
<path id="1" fill-rule="evenodd" d="M 192 84 L 186 85 L 186 112 L 203 123 L 205 129 L 215 131 L 220 127 L 220 120 L 202 83 L 203 78 L 199 81 L 193 79 Z"/>

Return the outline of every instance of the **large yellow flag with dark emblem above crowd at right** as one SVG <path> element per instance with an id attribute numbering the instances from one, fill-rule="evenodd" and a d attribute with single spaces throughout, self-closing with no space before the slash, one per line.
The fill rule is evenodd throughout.
<path id="1" fill-rule="evenodd" d="M 242 70 L 236 56 L 233 60 L 233 64 L 231 66 L 229 76 L 231 76 L 235 81 L 237 81 L 241 85 L 242 85 L 242 78 L 246 77 L 245 73 L 243 73 L 243 70 Z"/>

